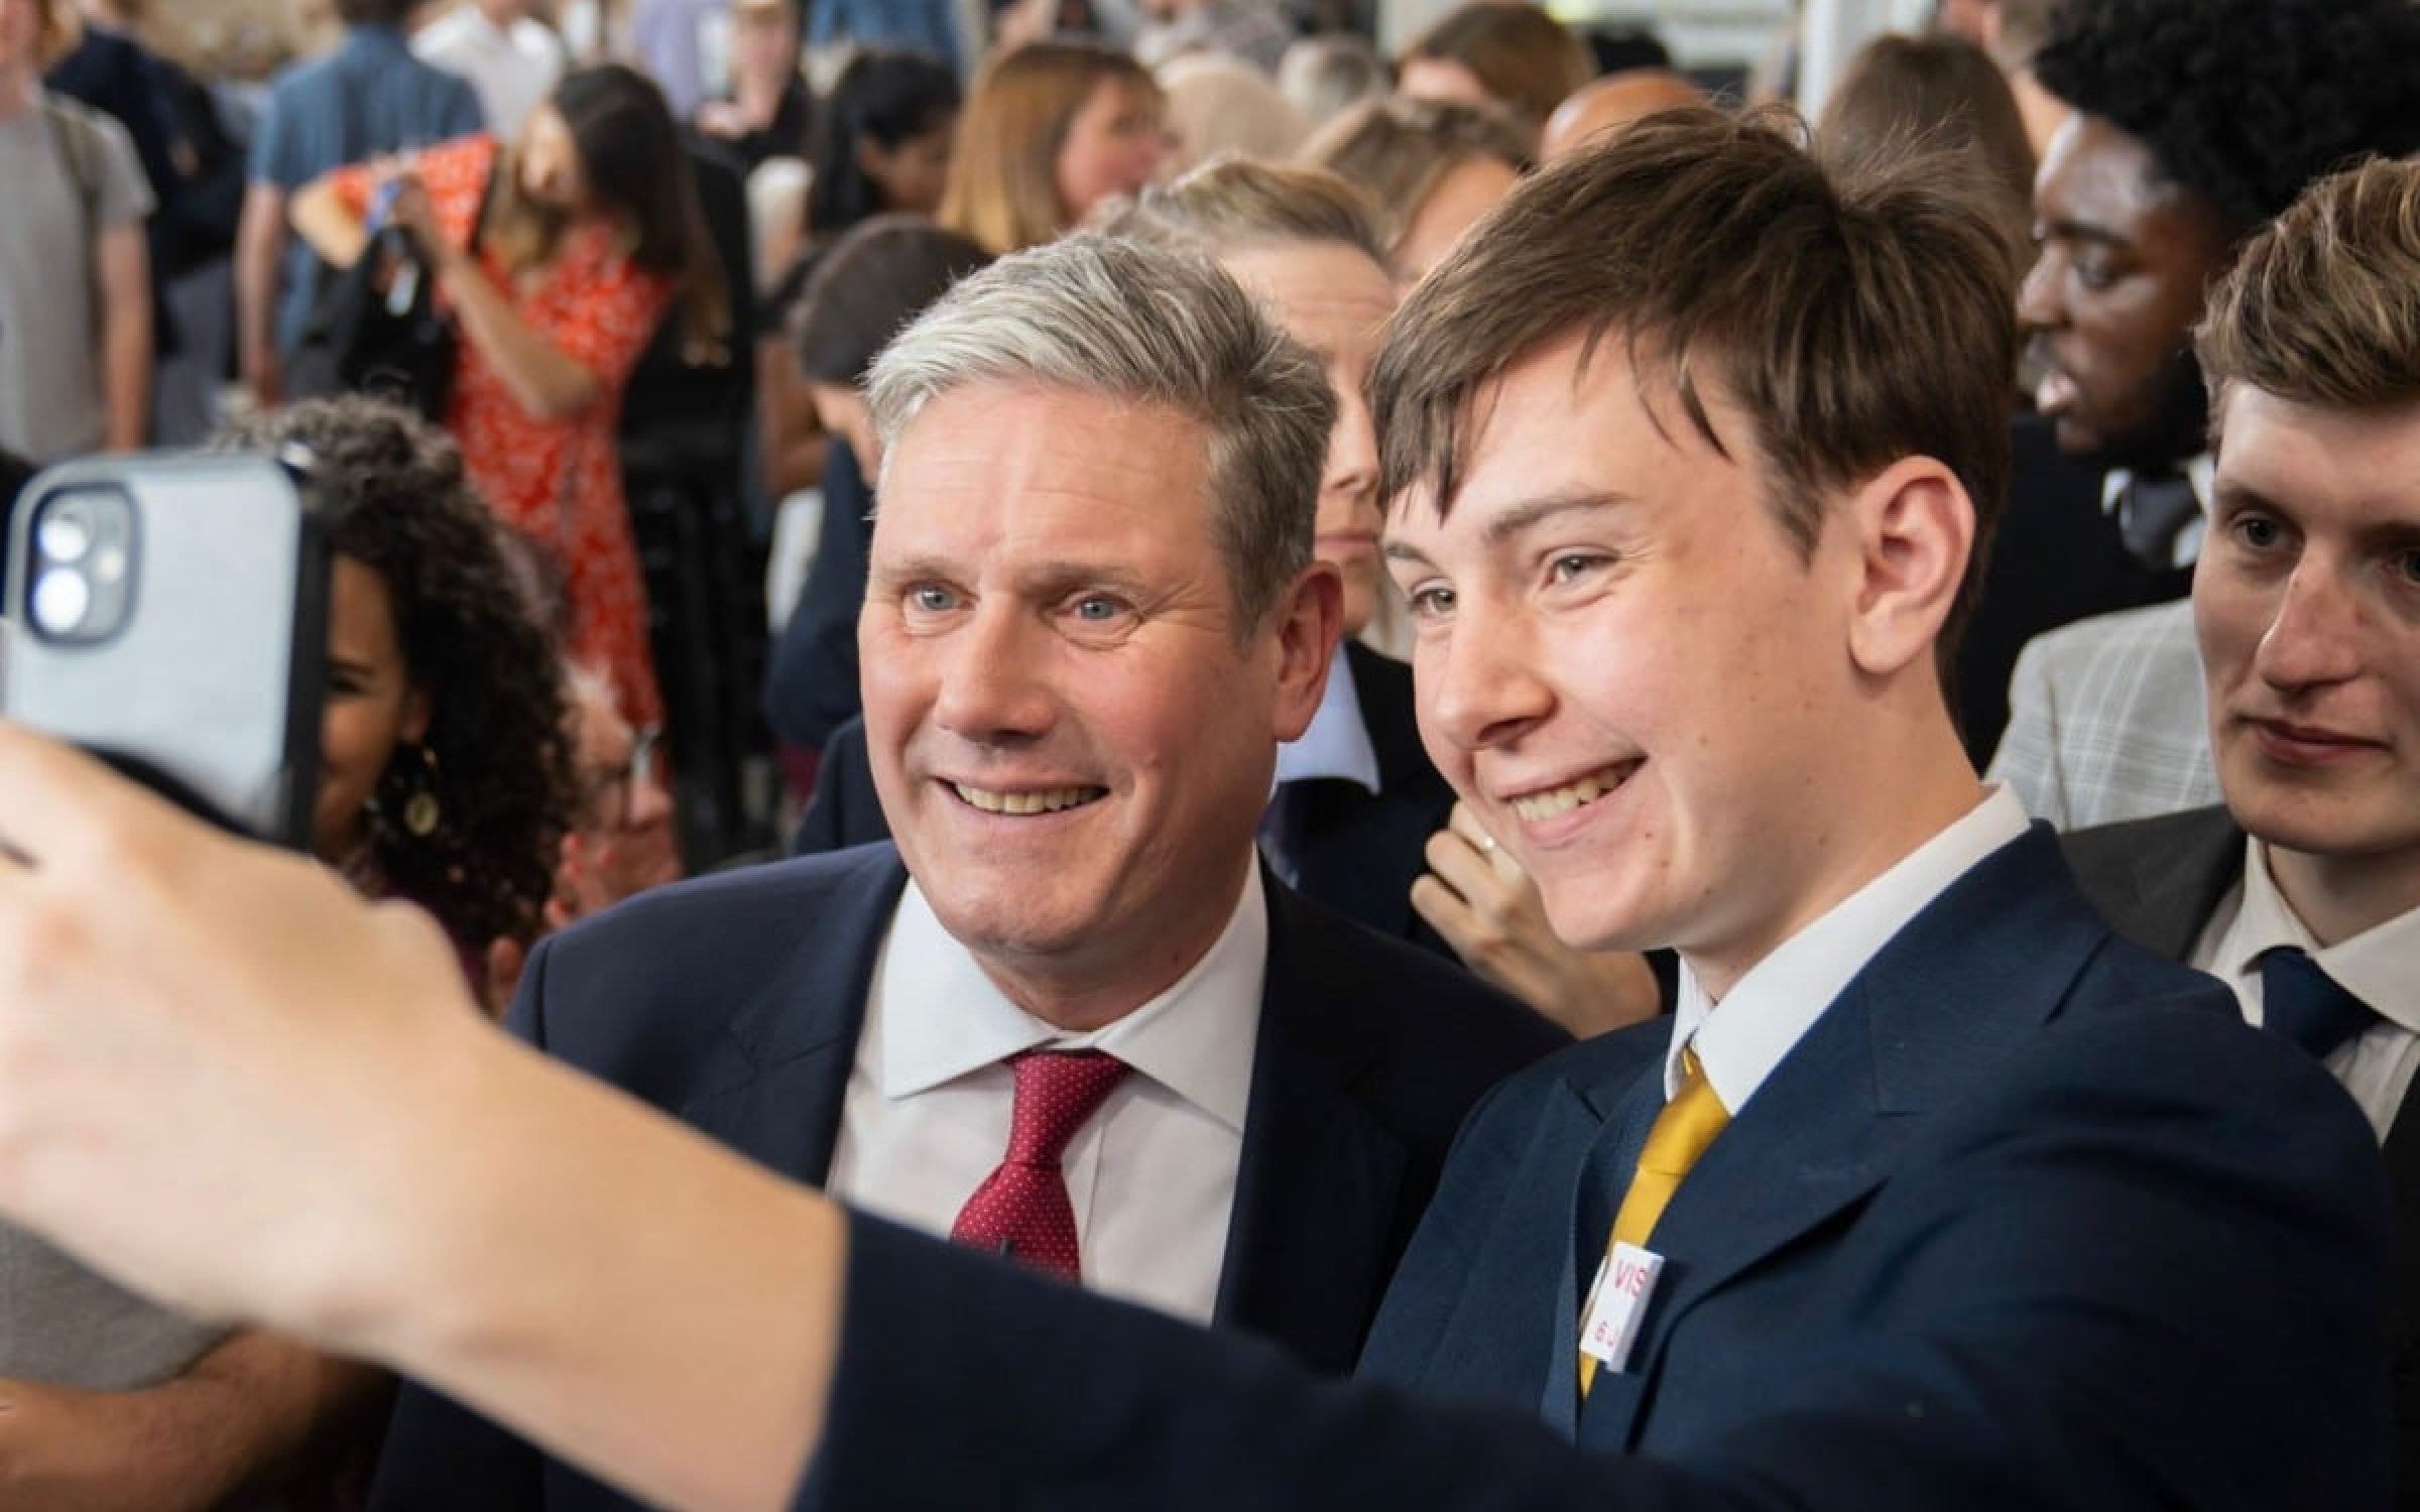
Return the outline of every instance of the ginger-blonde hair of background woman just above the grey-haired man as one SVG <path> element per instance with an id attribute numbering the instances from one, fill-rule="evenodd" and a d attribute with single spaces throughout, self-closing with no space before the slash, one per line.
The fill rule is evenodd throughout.
<path id="1" fill-rule="evenodd" d="M 992 254 L 1038 247 L 1067 230 L 1058 155 L 1067 123 L 1104 80 L 1159 97 L 1140 63 L 1089 44 L 1028 41 L 990 58 L 958 111 L 937 220 Z"/>

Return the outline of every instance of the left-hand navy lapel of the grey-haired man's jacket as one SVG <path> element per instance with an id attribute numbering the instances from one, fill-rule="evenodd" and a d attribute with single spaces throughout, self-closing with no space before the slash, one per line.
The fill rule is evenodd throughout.
<path id="1" fill-rule="evenodd" d="M 881 847 L 842 873 L 799 922 L 779 973 L 731 1016 L 721 1067 L 682 1120 L 782 1176 L 823 1183 L 840 1137 L 840 1103 L 866 1018 L 874 956 L 891 929 L 908 868 Z"/>

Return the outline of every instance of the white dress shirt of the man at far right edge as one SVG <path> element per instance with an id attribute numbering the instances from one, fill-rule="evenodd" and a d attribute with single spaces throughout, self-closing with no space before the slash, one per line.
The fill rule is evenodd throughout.
<path id="1" fill-rule="evenodd" d="M 2328 1074 L 2345 1084 L 2379 1139 L 2420 1069 L 2420 907 L 2321 948 L 2277 890 L 2268 847 L 2243 842 L 2243 881 L 2219 902 L 2193 946 L 2193 965 L 2236 989 L 2243 1016 L 2260 1023 L 2260 956 L 2299 946 L 2328 977 L 2369 1004 L 2379 1021 L 2328 1057 Z"/>

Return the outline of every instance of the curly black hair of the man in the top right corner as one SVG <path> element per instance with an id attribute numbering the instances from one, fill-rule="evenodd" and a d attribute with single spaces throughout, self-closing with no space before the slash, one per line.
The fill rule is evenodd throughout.
<path id="1" fill-rule="evenodd" d="M 2420 148 L 2410 0 L 2067 0 L 2033 70 L 2236 232 L 2328 172 Z"/>

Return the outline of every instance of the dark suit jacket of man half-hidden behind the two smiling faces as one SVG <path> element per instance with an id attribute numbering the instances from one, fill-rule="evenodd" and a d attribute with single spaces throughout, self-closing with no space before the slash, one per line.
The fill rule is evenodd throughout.
<path id="1" fill-rule="evenodd" d="M 1307 791 L 1300 796 L 1295 888 L 1348 919 L 1452 960 L 1445 939 L 1413 912 L 1411 883 L 1428 871 L 1423 852 L 1428 837 L 1452 818 L 1454 789 L 1445 786 L 1421 748 L 1411 668 L 1355 641 L 1346 641 L 1346 658 L 1353 663 L 1353 692 L 1377 755 L 1379 791 L 1341 777 L 1300 784 Z M 794 849 L 835 852 L 874 839 L 891 839 L 891 823 L 874 793 L 866 723 L 849 719 L 823 750 L 816 796 L 799 818 Z"/>

